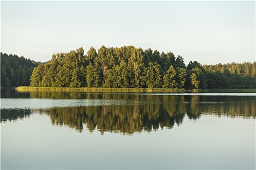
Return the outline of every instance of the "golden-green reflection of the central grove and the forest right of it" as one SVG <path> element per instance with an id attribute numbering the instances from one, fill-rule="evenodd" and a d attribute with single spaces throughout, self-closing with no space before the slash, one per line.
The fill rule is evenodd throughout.
<path id="1" fill-rule="evenodd" d="M 106 96 L 105 96 L 106 97 Z M 250 98 L 250 97 L 249 97 Z M 219 102 L 214 102 L 216 99 Z M 248 97 L 247 97 L 248 99 Z M 182 124 L 185 115 L 200 119 L 202 114 L 255 118 L 255 100 L 227 100 L 225 97 L 204 98 L 200 96 L 137 96 L 133 100 L 148 101 L 133 105 L 103 105 L 89 107 L 51 108 L 44 113 L 54 125 L 67 125 L 79 132 L 83 124 L 89 131 L 135 132 L 171 129 Z"/>

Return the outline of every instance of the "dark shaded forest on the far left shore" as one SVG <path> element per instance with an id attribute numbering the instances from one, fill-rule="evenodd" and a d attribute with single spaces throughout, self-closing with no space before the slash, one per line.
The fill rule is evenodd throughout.
<path id="1" fill-rule="evenodd" d="M 32 71 L 39 63 L 17 55 L 1 52 L 1 86 L 30 85 Z"/>

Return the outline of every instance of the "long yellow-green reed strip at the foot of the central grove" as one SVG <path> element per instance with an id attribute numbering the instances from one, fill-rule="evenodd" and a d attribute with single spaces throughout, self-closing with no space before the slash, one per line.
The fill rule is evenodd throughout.
<path id="1" fill-rule="evenodd" d="M 72 87 L 31 87 L 19 86 L 17 91 L 65 91 L 65 92 L 169 92 L 183 93 L 185 90 L 178 88 L 72 88 Z"/>

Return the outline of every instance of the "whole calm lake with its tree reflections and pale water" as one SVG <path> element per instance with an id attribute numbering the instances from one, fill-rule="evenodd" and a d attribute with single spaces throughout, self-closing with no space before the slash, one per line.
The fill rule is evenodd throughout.
<path id="1" fill-rule="evenodd" d="M 256 169 L 255 93 L 1 89 L 1 169 Z"/>

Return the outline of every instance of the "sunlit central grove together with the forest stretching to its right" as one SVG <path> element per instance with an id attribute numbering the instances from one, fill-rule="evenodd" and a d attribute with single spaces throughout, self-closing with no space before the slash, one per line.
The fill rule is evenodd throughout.
<path id="1" fill-rule="evenodd" d="M 106 88 L 256 88 L 256 62 L 205 65 L 172 52 L 133 46 L 55 53 L 33 70 L 31 86 Z"/>

